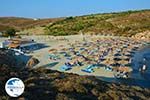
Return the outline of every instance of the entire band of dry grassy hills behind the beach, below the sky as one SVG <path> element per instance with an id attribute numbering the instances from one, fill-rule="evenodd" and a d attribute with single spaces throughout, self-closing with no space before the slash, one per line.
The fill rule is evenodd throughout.
<path id="1" fill-rule="evenodd" d="M 73 35 L 102 34 L 133 36 L 150 31 L 150 10 L 91 14 L 67 18 L 33 20 L 18 17 L 1 17 L 0 31 L 13 27 L 20 33 Z"/>

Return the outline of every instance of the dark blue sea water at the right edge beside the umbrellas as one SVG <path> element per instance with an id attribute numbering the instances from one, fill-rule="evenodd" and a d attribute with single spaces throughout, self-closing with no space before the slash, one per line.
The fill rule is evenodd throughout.
<path id="1" fill-rule="evenodd" d="M 147 70 L 144 73 L 141 73 L 139 71 L 139 68 L 142 66 L 144 57 L 146 57 L 145 63 L 147 66 Z M 129 79 L 128 81 L 120 80 L 120 82 L 127 83 L 129 85 L 137 85 L 150 88 L 150 46 L 144 47 L 134 54 L 132 60 L 132 68 L 133 72 L 131 74 L 131 79 Z"/>

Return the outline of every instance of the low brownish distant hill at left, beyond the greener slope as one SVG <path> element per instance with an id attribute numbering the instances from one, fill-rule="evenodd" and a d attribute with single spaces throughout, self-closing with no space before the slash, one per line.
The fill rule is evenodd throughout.
<path id="1" fill-rule="evenodd" d="M 62 18 L 33 20 L 29 18 L 20 18 L 20 17 L 0 17 L 0 31 L 4 31 L 7 28 L 24 30 L 24 29 L 34 28 L 37 26 L 44 26 L 61 19 Z"/>

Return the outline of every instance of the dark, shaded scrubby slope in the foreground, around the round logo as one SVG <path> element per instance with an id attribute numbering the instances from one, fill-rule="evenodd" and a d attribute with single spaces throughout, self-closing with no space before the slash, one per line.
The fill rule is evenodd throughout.
<path id="1" fill-rule="evenodd" d="M 150 89 L 137 86 L 107 83 L 92 76 L 61 73 L 44 68 L 17 69 L 9 61 L 8 50 L 0 50 L 0 100 L 10 98 L 4 89 L 11 77 L 25 83 L 25 92 L 18 100 L 148 100 Z M 6 58 L 7 57 L 7 58 Z"/>

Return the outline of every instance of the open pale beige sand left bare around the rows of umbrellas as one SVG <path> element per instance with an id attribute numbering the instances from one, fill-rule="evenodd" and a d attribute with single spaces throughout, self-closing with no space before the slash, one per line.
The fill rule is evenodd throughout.
<path id="1" fill-rule="evenodd" d="M 34 39 L 37 43 L 42 43 L 46 46 L 44 48 L 35 50 L 30 54 L 27 54 L 28 56 L 33 56 L 33 57 L 37 58 L 40 61 L 40 63 L 38 65 L 36 65 L 34 68 L 46 67 L 48 69 L 58 70 L 58 71 L 61 71 L 60 67 L 62 65 L 64 65 L 65 59 L 58 60 L 57 62 L 59 62 L 59 63 L 56 66 L 50 67 L 49 64 L 51 64 L 53 62 L 56 62 L 56 61 L 51 61 L 49 59 L 49 55 L 48 55 L 49 50 L 53 49 L 53 48 L 58 49 L 60 45 L 64 45 L 64 47 L 68 47 L 68 45 L 67 45 L 68 43 L 74 43 L 75 41 L 80 41 L 81 42 L 84 38 L 82 35 L 64 36 L 64 37 L 53 37 L 53 36 L 46 36 L 46 35 L 37 35 L 37 36 L 32 35 L 32 36 L 22 36 L 22 37 L 23 38 L 28 38 L 28 39 Z M 85 36 L 85 38 L 88 39 L 88 40 L 90 40 L 91 37 L 92 38 L 98 38 L 98 37 L 110 38 L 112 36 L 88 36 L 88 35 Z M 122 37 L 122 38 L 124 38 L 124 37 Z M 0 38 L 0 41 L 3 41 L 5 39 L 6 38 Z M 114 75 L 113 75 L 113 72 L 106 71 L 103 67 L 98 68 L 98 69 L 94 69 L 93 73 L 86 73 L 86 72 L 81 71 L 81 69 L 83 69 L 87 66 L 82 66 L 82 67 L 76 66 L 76 67 L 73 67 L 71 70 L 65 71 L 65 72 L 66 73 L 75 73 L 75 74 L 78 74 L 78 75 L 96 76 L 98 78 L 102 78 L 105 81 L 110 81 L 110 79 L 115 79 Z"/>

